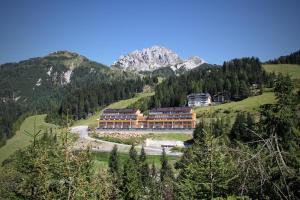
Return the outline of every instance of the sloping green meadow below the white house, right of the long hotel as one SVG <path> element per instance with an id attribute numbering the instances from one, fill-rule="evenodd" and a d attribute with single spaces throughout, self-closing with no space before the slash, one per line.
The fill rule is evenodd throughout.
<path id="1" fill-rule="evenodd" d="M 249 97 L 242 101 L 225 103 L 216 106 L 199 107 L 195 111 L 197 118 L 223 118 L 228 117 L 231 121 L 235 118 L 238 112 L 258 113 L 259 107 L 264 104 L 275 103 L 273 92 L 265 92 L 259 96 Z"/>

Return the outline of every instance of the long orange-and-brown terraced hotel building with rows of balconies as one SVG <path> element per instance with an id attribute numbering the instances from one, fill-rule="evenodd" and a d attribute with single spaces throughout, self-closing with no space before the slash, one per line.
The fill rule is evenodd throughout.
<path id="1" fill-rule="evenodd" d="M 106 109 L 100 129 L 194 129 L 196 113 L 190 107 L 155 108 L 144 116 L 138 109 Z"/>

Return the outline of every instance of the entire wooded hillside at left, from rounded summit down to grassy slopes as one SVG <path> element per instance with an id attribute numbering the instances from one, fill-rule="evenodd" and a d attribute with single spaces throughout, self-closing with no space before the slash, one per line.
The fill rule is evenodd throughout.
<path id="1" fill-rule="evenodd" d="M 13 124 L 25 113 L 45 113 L 47 121 L 61 124 L 67 113 L 85 118 L 102 105 L 132 97 L 143 85 L 139 75 L 111 70 L 68 51 L 2 64 L 0 146 L 12 137 Z"/>

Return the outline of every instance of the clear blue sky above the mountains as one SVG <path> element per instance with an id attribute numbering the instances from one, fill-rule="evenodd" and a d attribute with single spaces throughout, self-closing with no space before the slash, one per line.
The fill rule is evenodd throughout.
<path id="1" fill-rule="evenodd" d="M 77 52 L 111 65 L 161 45 L 211 64 L 300 49 L 299 0 L 0 0 L 0 63 Z"/>

